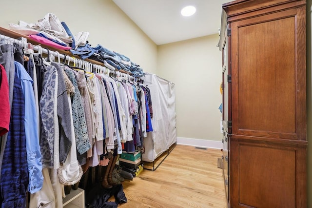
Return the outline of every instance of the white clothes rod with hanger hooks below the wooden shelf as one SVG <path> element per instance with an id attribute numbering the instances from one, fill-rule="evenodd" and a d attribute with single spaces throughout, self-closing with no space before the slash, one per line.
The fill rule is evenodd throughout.
<path id="1" fill-rule="evenodd" d="M 31 43 L 28 43 L 27 39 L 25 39 L 23 37 L 22 37 L 22 40 L 23 41 L 20 41 L 20 40 L 17 40 L 17 39 L 14 39 L 14 38 L 11 38 L 11 37 L 8 37 L 8 36 L 0 34 L 0 42 L 1 41 L 7 41 L 8 43 L 12 43 L 12 44 L 16 43 L 16 44 L 18 44 L 19 46 L 21 46 L 23 48 L 28 48 L 28 44 L 30 44 L 32 46 L 33 50 L 38 51 L 41 54 L 44 53 L 44 54 L 53 55 L 54 57 L 58 58 L 59 61 L 60 61 L 60 59 L 63 59 L 63 60 L 65 60 L 65 62 L 68 61 L 68 63 L 69 62 L 73 62 L 78 67 L 85 66 L 86 68 L 88 68 L 88 66 L 91 66 L 92 68 L 94 68 L 96 70 L 99 69 L 102 72 L 104 72 L 104 71 L 106 72 L 108 70 L 109 73 L 116 74 L 119 77 L 122 77 L 122 74 L 124 74 L 124 75 L 126 75 L 125 77 L 129 77 L 129 78 L 135 80 L 135 78 L 133 76 L 129 75 L 129 74 L 122 73 L 122 72 L 119 72 L 119 71 L 113 71 L 113 70 L 107 68 L 106 66 L 101 66 L 101 65 L 98 65 L 98 64 L 95 64 L 95 63 L 87 62 L 87 61 L 78 59 L 76 57 L 70 57 L 69 55 L 61 54 L 58 51 L 48 50 L 47 48 L 43 48 L 40 45 L 33 45 Z M 90 70 L 89 70 L 89 72 L 90 72 Z"/>

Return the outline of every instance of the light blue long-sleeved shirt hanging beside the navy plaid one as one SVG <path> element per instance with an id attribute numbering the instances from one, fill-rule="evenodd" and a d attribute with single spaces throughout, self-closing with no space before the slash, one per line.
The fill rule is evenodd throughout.
<path id="1" fill-rule="evenodd" d="M 25 139 L 27 152 L 27 166 L 29 173 L 28 190 L 35 193 L 42 188 L 42 163 L 41 152 L 39 146 L 38 120 L 35 103 L 35 94 L 33 88 L 33 80 L 25 70 L 24 66 L 19 62 L 14 62 L 15 69 L 20 79 L 21 88 L 25 101 Z"/>

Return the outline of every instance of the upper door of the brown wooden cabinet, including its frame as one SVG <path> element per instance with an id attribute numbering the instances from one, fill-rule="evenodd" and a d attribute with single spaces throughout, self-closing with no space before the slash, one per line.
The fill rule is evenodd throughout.
<path id="1" fill-rule="evenodd" d="M 306 140 L 304 7 L 231 28 L 232 134 Z"/>

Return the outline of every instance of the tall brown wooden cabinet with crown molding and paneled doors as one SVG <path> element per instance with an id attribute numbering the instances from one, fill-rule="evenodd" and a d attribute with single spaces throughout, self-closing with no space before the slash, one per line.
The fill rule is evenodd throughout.
<path id="1" fill-rule="evenodd" d="M 222 6 L 222 158 L 231 208 L 307 206 L 305 12 L 305 0 Z"/>

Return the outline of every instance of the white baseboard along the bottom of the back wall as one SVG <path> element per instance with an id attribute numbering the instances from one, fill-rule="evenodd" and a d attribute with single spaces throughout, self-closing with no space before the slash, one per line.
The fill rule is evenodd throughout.
<path id="1" fill-rule="evenodd" d="M 213 148 L 213 149 L 223 148 L 221 141 L 193 139 L 193 138 L 185 138 L 185 137 L 176 137 L 176 144 L 197 146 L 197 147 L 204 147 L 204 148 Z"/>

